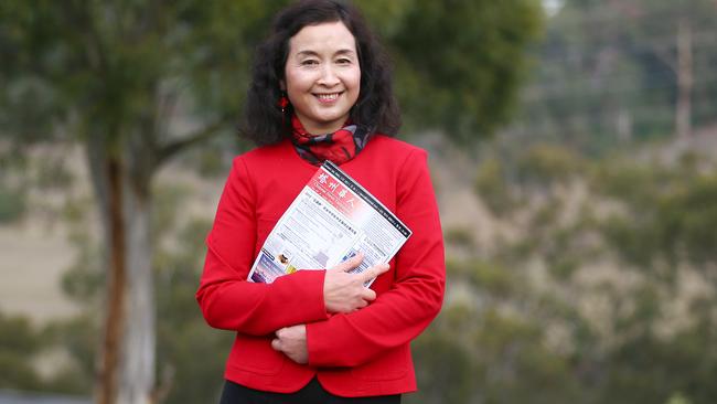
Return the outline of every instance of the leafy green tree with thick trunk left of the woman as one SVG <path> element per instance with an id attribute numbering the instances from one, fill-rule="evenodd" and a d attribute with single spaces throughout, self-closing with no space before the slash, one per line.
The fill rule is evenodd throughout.
<path id="1" fill-rule="evenodd" d="M 106 249 L 98 403 L 156 389 L 152 180 L 172 157 L 232 130 L 264 1 L 3 1 L 3 137 L 13 150 L 79 141 Z"/>

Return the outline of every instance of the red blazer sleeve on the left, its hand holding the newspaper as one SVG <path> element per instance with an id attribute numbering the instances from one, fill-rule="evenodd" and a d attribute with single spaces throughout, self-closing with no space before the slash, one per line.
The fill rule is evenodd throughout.
<path id="1" fill-rule="evenodd" d="M 324 270 L 299 270 L 272 284 L 247 281 L 257 243 L 256 190 L 242 157 L 234 160 L 206 237 L 196 300 L 206 322 L 252 336 L 327 319 Z"/>

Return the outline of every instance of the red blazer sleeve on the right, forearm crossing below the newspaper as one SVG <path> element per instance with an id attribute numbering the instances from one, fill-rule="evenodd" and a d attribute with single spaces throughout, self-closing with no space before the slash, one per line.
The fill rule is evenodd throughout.
<path id="1" fill-rule="evenodd" d="M 310 365 L 366 363 L 416 338 L 440 310 L 446 263 L 427 153 L 411 152 L 397 178 L 396 214 L 413 234 L 396 256 L 394 285 L 361 310 L 307 325 Z"/>

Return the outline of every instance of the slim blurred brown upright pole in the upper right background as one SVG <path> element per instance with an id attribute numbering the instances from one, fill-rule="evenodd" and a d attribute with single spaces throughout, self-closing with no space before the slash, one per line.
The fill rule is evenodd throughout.
<path id="1" fill-rule="evenodd" d="M 692 135 L 692 28 L 686 18 L 677 28 L 677 107 L 675 130 L 681 139 Z"/>

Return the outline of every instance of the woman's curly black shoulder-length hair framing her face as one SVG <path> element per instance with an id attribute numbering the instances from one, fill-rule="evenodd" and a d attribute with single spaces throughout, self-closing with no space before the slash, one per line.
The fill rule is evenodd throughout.
<path id="1" fill-rule="evenodd" d="M 370 131 L 396 135 L 400 113 L 393 94 L 390 63 L 361 13 L 345 1 L 301 0 L 277 14 L 271 34 L 256 50 L 239 130 L 243 137 L 261 146 L 290 136 L 291 106 L 283 114 L 278 106 L 289 40 L 307 25 L 336 21 L 355 38 L 361 66 L 358 99 L 350 111 L 352 121 Z"/>

